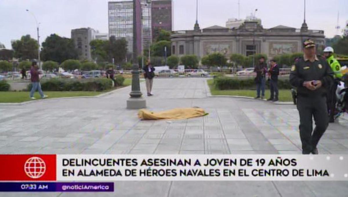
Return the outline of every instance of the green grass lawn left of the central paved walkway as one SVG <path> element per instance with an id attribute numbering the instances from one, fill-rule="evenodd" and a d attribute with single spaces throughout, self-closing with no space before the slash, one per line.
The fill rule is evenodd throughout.
<path id="1" fill-rule="evenodd" d="M 125 79 L 123 82 L 123 86 L 128 86 L 132 84 L 132 79 Z M 119 88 L 119 87 L 118 87 Z M 44 91 L 45 95 L 48 95 L 49 98 L 60 98 L 60 97 L 81 97 L 81 96 L 97 96 L 105 92 L 109 92 L 115 90 L 117 88 L 113 88 L 110 90 L 102 91 L 102 92 L 94 92 L 94 91 Z M 34 97 L 37 99 L 41 99 L 38 92 L 35 92 Z M 29 98 L 29 91 L 26 92 L 0 92 L 0 102 L 25 102 L 31 100 Z"/>

